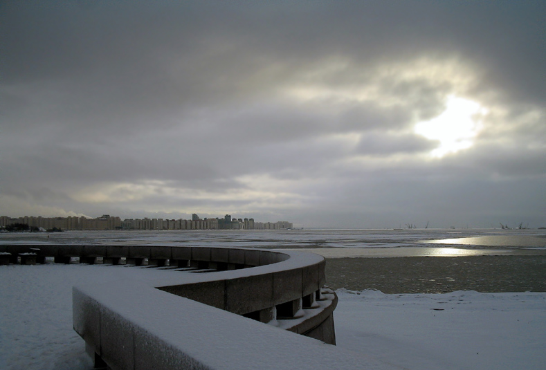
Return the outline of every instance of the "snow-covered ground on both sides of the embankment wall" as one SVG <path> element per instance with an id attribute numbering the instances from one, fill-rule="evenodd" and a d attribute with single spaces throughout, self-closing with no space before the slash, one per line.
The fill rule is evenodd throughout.
<path id="1" fill-rule="evenodd" d="M 72 286 L 165 273 L 173 272 L 0 266 L 0 369 L 92 369 L 72 329 Z M 337 293 L 339 347 L 402 369 L 544 369 L 546 293 Z"/>

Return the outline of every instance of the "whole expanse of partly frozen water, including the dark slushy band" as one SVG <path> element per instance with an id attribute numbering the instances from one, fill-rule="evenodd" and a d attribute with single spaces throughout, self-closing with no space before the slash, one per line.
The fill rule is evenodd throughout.
<path id="1" fill-rule="evenodd" d="M 120 230 L 0 234 L 0 244 L 6 243 L 295 249 L 327 258 L 327 284 L 334 289 L 372 288 L 383 293 L 546 291 L 546 230 Z"/>

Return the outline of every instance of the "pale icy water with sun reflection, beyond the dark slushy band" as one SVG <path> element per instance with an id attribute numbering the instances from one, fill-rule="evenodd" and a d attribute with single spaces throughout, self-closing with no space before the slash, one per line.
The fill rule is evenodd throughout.
<path id="1" fill-rule="evenodd" d="M 327 258 L 546 255 L 546 230 L 168 230 L 1 233 L 0 243 L 223 246 L 309 250 Z"/>

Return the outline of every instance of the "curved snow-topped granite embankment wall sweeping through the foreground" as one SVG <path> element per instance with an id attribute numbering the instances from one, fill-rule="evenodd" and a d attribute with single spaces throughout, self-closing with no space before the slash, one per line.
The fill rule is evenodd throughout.
<path id="1" fill-rule="evenodd" d="M 210 272 L 75 287 L 73 326 L 98 366 L 255 369 L 264 367 L 271 351 L 277 357 L 282 351 L 289 360 L 277 358 L 271 368 L 364 367 L 354 354 L 311 339 L 335 344 L 337 297 L 323 287 L 325 260 L 318 255 L 178 246 L 3 247 L 0 252 L 18 255 L 20 262 L 23 255 L 42 263 L 46 257 L 64 263 L 73 257 L 88 263 L 127 259 L 137 266 L 149 261 L 152 266 Z M 286 361 L 290 365 L 282 366 Z M 343 363 L 351 366 L 340 367 Z"/>

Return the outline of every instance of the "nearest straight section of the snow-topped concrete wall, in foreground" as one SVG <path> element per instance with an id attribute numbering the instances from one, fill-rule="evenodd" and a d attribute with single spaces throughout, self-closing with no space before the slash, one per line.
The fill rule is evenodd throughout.
<path id="1" fill-rule="evenodd" d="M 87 306 L 86 297 L 100 302 L 100 308 L 89 308 L 104 323 L 99 333 L 104 342 L 93 348 L 100 347 L 111 369 L 393 369 L 137 281 L 78 287 L 74 292 L 75 307 Z M 75 315 L 76 331 L 79 318 Z M 329 322 L 331 318 L 316 333 L 328 331 Z"/>

